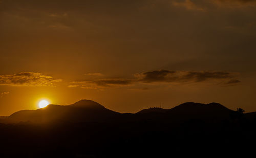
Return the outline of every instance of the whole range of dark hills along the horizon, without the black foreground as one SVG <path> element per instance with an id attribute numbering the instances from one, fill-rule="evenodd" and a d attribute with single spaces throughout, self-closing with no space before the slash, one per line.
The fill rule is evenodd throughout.
<path id="1" fill-rule="evenodd" d="M 80 100 L 71 105 L 48 105 L 36 110 L 20 110 L 9 117 L 1 117 L 0 123 L 49 123 L 64 122 L 105 122 L 105 121 L 141 121 L 155 120 L 162 122 L 179 122 L 188 119 L 224 120 L 230 118 L 233 110 L 219 103 L 187 102 L 171 109 L 152 107 L 135 114 L 120 114 L 105 108 L 92 100 Z M 254 115 L 251 114 L 251 118 Z"/>

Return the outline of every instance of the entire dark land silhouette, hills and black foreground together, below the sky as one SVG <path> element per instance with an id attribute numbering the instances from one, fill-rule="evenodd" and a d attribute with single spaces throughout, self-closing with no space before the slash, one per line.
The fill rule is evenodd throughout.
<path id="1" fill-rule="evenodd" d="M 207 157 L 249 153 L 256 140 L 255 112 L 218 103 L 120 114 L 81 100 L 18 111 L 0 122 L 0 157 Z"/>

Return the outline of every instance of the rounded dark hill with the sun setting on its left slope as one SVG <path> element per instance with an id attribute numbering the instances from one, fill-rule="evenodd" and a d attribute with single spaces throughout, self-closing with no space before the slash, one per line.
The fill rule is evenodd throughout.
<path id="1" fill-rule="evenodd" d="M 36 110 L 17 111 L 9 117 L 2 119 L 2 122 L 94 122 L 108 120 L 118 114 L 118 112 L 107 109 L 92 100 L 80 100 L 71 105 L 48 105 L 45 108 Z"/>

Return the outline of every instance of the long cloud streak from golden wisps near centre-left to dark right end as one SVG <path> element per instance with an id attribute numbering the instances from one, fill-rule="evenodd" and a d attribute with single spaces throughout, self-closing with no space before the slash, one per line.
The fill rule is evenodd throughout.
<path id="1" fill-rule="evenodd" d="M 109 87 L 133 86 L 135 84 L 187 84 L 201 82 L 217 82 L 221 84 L 236 84 L 241 81 L 234 79 L 238 74 L 230 72 L 210 72 L 210 71 L 169 71 L 155 70 L 137 73 L 133 79 L 96 79 L 85 81 L 74 81 L 68 87 L 81 87 L 86 89 L 104 89 Z M 138 88 L 130 88 L 138 89 Z M 141 89 L 141 88 L 140 88 Z M 148 88 L 144 89 L 147 90 Z"/>

